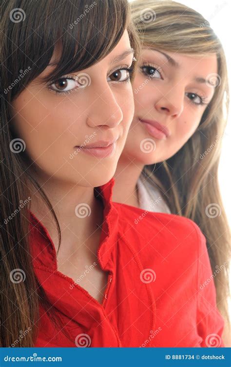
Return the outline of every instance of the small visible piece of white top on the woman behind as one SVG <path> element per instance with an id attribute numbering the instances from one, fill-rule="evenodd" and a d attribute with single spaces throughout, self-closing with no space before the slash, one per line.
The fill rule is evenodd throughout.
<path id="1" fill-rule="evenodd" d="M 137 192 L 140 209 L 147 210 L 149 212 L 171 214 L 168 205 L 165 203 L 159 191 L 151 185 L 148 180 L 145 180 L 144 183 L 144 179 L 142 180 L 142 178 L 138 178 Z"/>

